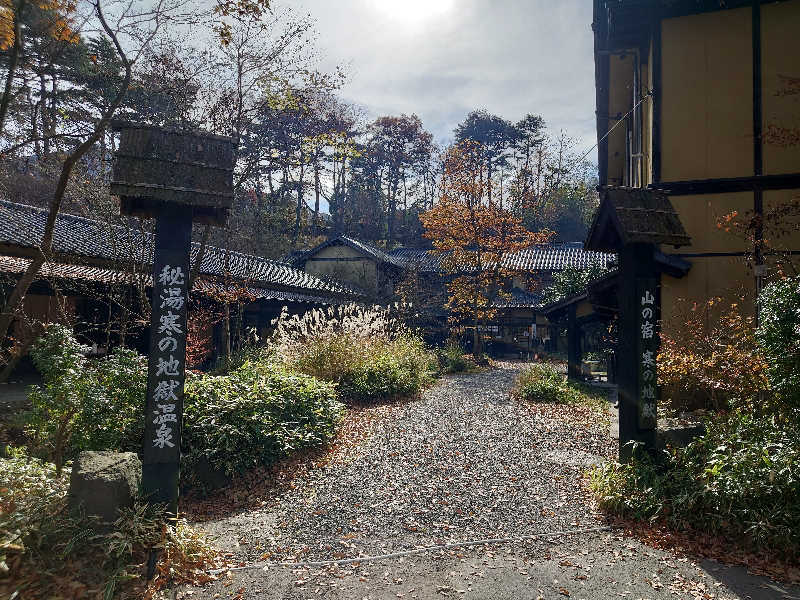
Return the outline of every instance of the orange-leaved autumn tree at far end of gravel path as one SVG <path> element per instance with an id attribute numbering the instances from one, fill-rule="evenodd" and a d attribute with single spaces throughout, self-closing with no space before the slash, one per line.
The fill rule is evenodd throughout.
<path id="1" fill-rule="evenodd" d="M 495 317 L 515 275 L 506 257 L 545 243 L 551 235 L 528 231 L 518 217 L 492 201 L 483 164 L 478 143 L 465 140 L 452 147 L 445 157 L 441 198 L 420 216 L 425 237 L 450 275 L 447 306 L 453 320 L 475 325 L 476 358 L 482 354 L 481 328 Z"/>

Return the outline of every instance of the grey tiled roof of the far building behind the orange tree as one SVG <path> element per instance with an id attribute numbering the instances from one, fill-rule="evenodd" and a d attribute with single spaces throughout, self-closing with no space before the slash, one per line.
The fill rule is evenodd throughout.
<path id="1" fill-rule="evenodd" d="M 390 254 L 406 268 L 420 271 L 440 270 L 441 258 L 430 250 L 420 248 L 397 248 Z M 563 244 L 532 246 L 505 257 L 505 266 L 520 271 L 560 271 L 567 267 L 586 269 L 593 264 L 608 267 L 616 259 L 615 254 L 584 250 L 579 245 Z"/>

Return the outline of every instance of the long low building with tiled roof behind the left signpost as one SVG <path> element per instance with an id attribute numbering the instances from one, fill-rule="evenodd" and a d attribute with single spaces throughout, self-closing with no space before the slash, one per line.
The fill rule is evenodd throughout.
<path id="1" fill-rule="evenodd" d="M 0 201 L 0 299 L 37 252 L 47 211 Z M 84 343 L 98 352 L 120 343 L 148 348 L 147 314 L 152 288 L 153 235 L 130 227 L 69 214 L 56 217 L 52 260 L 45 263 L 24 301 L 24 317 L 13 334 L 22 340 L 30 326 L 63 319 L 75 325 Z M 200 244 L 193 243 L 196 263 Z M 285 263 L 206 246 L 197 268 L 192 298 L 200 304 L 227 302 L 238 330 L 264 332 L 285 307 L 293 313 L 370 296 L 346 281 L 314 275 Z M 140 322 L 136 322 L 139 319 Z M 221 325 L 206 332 L 219 351 Z"/>

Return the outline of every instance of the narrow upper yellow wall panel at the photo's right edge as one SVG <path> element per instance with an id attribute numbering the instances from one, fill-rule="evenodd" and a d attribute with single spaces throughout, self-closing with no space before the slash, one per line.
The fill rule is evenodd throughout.
<path id="1" fill-rule="evenodd" d="M 800 172 L 800 2 L 761 5 L 764 173 Z"/>

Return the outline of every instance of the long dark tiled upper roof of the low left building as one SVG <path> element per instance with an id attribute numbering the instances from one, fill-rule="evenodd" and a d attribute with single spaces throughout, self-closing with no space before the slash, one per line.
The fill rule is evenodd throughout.
<path id="1" fill-rule="evenodd" d="M 47 212 L 43 209 L 0 200 L 0 244 L 22 248 L 38 247 L 44 233 Z M 53 250 L 58 260 L 66 257 L 92 261 L 126 263 L 133 259 L 140 264 L 152 264 L 154 236 L 147 232 L 109 225 L 74 215 L 60 214 L 56 218 Z M 192 243 L 195 259 L 200 244 Z M 226 265 L 228 268 L 226 269 Z M 300 269 L 258 256 L 226 251 L 206 246 L 200 265 L 203 275 L 224 277 L 230 274 L 247 280 L 257 287 L 290 288 L 291 291 L 312 295 L 364 297 L 355 286 L 332 278 L 311 275 Z"/>

